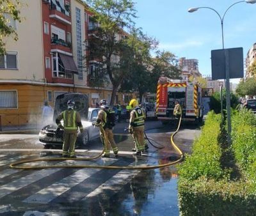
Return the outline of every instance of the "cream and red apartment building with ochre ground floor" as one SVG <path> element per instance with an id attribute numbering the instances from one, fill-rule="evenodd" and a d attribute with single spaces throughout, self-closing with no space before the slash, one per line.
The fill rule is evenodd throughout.
<path id="1" fill-rule="evenodd" d="M 40 121 L 44 102 L 54 107 L 56 96 L 66 92 L 88 95 L 90 106 L 110 101 L 111 85 L 95 88 L 88 82 L 97 62 L 85 58 L 84 41 L 95 23 L 84 1 L 21 2 L 24 19 L 10 22 L 19 40 L 6 38 L 7 52 L 0 56 L 0 125 Z M 118 93 L 116 102 L 124 97 Z"/>

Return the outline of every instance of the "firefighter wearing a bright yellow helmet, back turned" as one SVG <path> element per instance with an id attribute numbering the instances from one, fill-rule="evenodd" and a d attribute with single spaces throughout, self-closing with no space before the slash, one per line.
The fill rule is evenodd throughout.
<path id="1" fill-rule="evenodd" d="M 131 114 L 129 121 L 129 133 L 133 134 L 136 141 L 136 155 L 141 155 L 142 151 L 145 151 L 144 146 L 144 123 L 145 112 L 139 107 L 138 101 L 132 99 L 130 104 Z"/>

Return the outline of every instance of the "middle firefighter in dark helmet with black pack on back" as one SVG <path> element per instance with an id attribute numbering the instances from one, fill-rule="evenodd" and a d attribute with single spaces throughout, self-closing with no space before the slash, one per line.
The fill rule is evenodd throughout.
<path id="1" fill-rule="evenodd" d="M 100 139 L 104 145 L 103 157 L 110 157 L 110 146 L 113 150 L 115 157 L 118 154 L 113 134 L 113 127 L 115 126 L 115 111 L 109 108 L 106 100 L 100 100 L 101 110 L 98 113 L 95 125 L 100 128 Z"/>

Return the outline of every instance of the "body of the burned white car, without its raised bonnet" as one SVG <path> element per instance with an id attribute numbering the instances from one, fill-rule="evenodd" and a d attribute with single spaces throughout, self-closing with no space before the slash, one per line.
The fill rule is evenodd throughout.
<path id="1" fill-rule="evenodd" d="M 88 119 L 82 120 L 83 133 L 77 134 L 77 146 L 84 146 L 89 141 L 99 137 L 99 127 L 95 127 L 92 123 L 96 120 L 99 108 L 88 109 Z M 63 124 L 63 122 L 62 122 Z M 62 145 L 63 144 L 63 130 L 58 128 L 56 124 L 47 125 L 39 132 L 39 141 L 44 145 Z"/>

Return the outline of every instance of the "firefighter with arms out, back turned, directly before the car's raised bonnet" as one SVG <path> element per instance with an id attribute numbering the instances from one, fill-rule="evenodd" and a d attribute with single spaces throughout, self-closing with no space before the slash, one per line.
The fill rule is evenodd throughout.
<path id="1" fill-rule="evenodd" d="M 74 111 L 74 100 L 68 100 L 67 105 L 68 109 L 61 112 L 58 118 L 56 118 L 56 124 L 59 128 L 64 130 L 62 156 L 76 158 L 75 144 L 77 138 L 77 127 L 79 127 L 80 132 L 83 133 L 83 125 L 81 123 L 79 112 Z M 61 120 L 63 120 L 63 125 L 61 125 Z"/>

